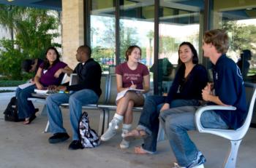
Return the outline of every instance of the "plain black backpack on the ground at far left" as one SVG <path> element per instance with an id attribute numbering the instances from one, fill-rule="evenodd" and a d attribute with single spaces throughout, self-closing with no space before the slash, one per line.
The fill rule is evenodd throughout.
<path id="1" fill-rule="evenodd" d="M 18 122 L 18 103 L 16 97 L 12 97 L 10 103 L 4 111 L 5 121 L 15 121 Z"/>

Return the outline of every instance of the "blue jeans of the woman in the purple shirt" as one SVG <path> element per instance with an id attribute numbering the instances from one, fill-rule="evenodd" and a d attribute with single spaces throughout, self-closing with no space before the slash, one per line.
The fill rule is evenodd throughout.
<path id="1" fill-rule="evenodd" d="M 31 97 L 31 93 L 34 92 L 36 85 L 31 85 L 24 89 L 19 87 L 16 89 L 15 96 L 18 100 L 18 117 L 19 119 L 29 118 L 34 114 L 34 105 L 28 100 Z"/>

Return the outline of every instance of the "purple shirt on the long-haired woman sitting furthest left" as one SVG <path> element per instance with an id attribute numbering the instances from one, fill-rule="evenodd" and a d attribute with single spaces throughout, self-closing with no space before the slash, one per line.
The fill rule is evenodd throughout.
<path id="1" fill-rule="evenodd" d="M 42 63 L 39 68 L 43 68 L 44 63 Z M 48 68 L 48 70 L 42 69 L 41 78 L 39 79 L 39 82 L 44 86 L 48 87 L 49 85 L 59 85 L 61 84 L 61 80 L 63 78 L 63 75 L 60 75 L 59 78 L 54 77 L 54 74 L 56 71 L 58 71 L 60 68 L 65 68 L 67 66 L 66 63 L 63 63 L 59 61 L 52 67 Z"/>

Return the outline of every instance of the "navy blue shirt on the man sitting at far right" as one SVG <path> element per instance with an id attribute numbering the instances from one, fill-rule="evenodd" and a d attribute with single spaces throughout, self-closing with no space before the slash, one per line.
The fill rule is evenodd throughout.
<path id="1" fill-rule="evenodd" d="M 247 115 L 246 95 L 241 71 L 230 58 L 222 55 L 213 66 L 215 95 L 226 105 L 233 105 L 236 111 L 217 110 L 232 129 L 238 129 Z"/>

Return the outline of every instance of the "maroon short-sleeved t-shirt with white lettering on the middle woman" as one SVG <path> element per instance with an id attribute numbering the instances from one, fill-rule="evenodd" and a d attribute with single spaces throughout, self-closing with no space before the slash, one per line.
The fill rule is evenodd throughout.
<path id="1" fill-rule="evenodd" d="M 149 74 L 148 68 L 142 63 L 138 63 L 138 67 L 135 70 L 131 70 L 127 62 L 121 63 L 116 66 L 116 74 L 122 76 L 123 87 L 130 87 L 133 84 L 137 84 L 136 89 L 143 89 L 143 76 Z"/>

